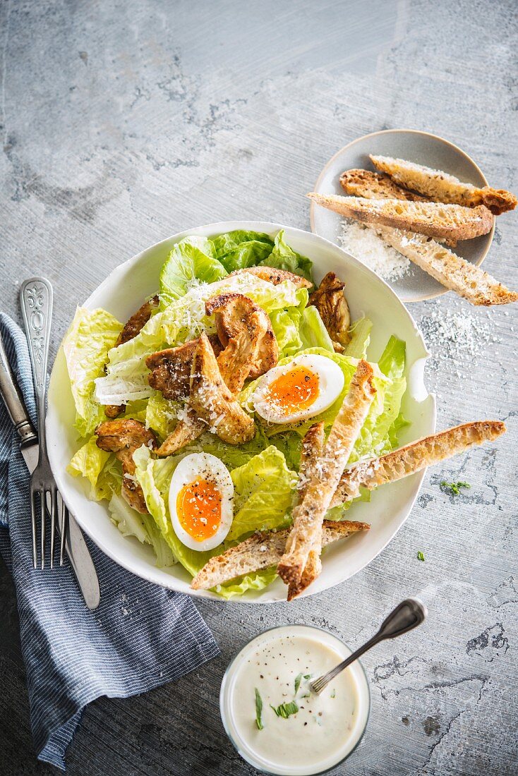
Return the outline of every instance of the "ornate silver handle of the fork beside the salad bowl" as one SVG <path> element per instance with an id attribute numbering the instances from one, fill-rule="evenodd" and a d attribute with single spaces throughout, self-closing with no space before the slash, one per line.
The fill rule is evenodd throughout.
<path id="1" fill-rule="evenodd" d="M 46 451 L 45 402 L 47 397 L 47 362 L 50 325 L 52 324 L 52 286 L 45 278 L 30 278 L 22 283 L 19 293 L 23 323 L 33 367 L 34 389 L 38 403 L 38 436 L 40 454 Z"/>

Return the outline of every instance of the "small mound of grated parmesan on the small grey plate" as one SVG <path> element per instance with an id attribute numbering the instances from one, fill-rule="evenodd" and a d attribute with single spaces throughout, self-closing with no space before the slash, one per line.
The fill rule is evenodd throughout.
<path id="1" fill-rule="evenodd" d="M 342 248 L 384 280 L 398 280 L 410 267 L 408 258 L 386 245 L 374 229 L 353 219 L 342 221 L 342 234 L 338 239 Z"/>

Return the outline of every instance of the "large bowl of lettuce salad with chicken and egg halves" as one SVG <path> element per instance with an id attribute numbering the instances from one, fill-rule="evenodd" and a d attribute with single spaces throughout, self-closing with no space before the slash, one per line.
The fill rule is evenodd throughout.
<path id="1" fill-rule="evenodd" d="M 339 248 L 271 224 L 219 226 L 144 251 L 78 308 L 50 380 L 50 462 L 79 524 L 121 565 L 195 595 L 285 600 L 282 580 L 288 598 L 336 584 L 407 516 L 423 467 L 365 473 L 434 430 L 426 348 L 388 286 Z M 355 390 L 364 398 L 360 374 L 370 396 L 353 430 L 344 408 Z M 333 448 L 340 424 L 349 439 Z M 290 542 L 308 549 L 297 584 Z"/>

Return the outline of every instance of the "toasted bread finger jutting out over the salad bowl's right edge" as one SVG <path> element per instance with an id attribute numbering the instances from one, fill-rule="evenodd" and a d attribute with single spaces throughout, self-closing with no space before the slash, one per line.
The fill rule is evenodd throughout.
<path id="1" fill-rule="evenodd" d="M 355 463 L 346 469 L 332 497 L 331 506 L 337 507 L 360 495 L 360 488 L 373 490 L 379 485 L 402 480 L 415 472 L 457 456 L 473 445 L 492 442 L 506 431 L 502 421 L 475 421 L 448 428 L 417 442 L 411 442 L 386 456 Z"/>

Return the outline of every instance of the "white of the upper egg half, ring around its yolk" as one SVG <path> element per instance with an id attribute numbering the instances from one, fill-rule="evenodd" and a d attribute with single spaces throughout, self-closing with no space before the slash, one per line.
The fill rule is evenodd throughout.
<path id="1" fill-rule="evenodd" d="M 297 366 L 304 366 L 318 376 L 318 396 L 311 404 L 299 411 L 284 414 L 280 407 L 276 407 L 269 398 L 269 386 L 283 374 L 290 372 Z M 342 369 L 325 355 L 297 355 L 289 363 L 283 366 L 274 366 L 266 375 L 262 376 L 252 396 L 252 404 L 256 413 L 269 423 L 295 423 L 315 417 L 337 400 L 342 393 L 345 382 Z"/>

